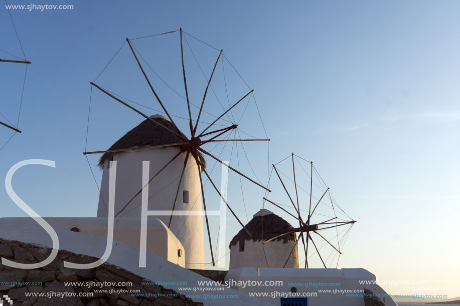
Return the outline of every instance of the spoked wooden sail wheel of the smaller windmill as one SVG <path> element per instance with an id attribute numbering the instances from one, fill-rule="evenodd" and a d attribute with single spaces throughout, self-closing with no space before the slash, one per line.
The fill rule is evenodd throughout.
<path id="1" fill-rule="evenodd" d="M 281 170 L 279 170 L 277 168 L 277 165 L 279 163 L 281 163 L 283 161 L 286 161 L 286 160 L 287 161 L 291 160 L 291 162 L 292 162 L 291 163 L 291 165 L 292 165 L 292 176 L 285 175 L 283 172 L 281 172 Z M 310 168 L 311 168 L 310 169 L 310 174 L 308 172 L 306 172 L 305 167 L 303 167 L 300 164 L 300 167 L 304 171 L 304 173 L 307 176 L 310 177 L 310 192 L 308 192 L 308 190 L 305 190 L 305 189 L 301 188 L 301 186 L 299 186 L 297 184 L 296 172 L 295 172 L 295 162 L 294 161 L 297 161 L 298 163 L 300 161 L 310 163 Z M 290 216 L 292 216 L 294 219 L 296 219 L 298 221 L 299 226 L 296 227 L 296 228 L 293 228 L 292 230 L 290 230 L 288 232 L 284 232 L 284 233 L 281 233 L 281 234 L 279 234 L 279 235 L 277 235 L 275 237 L 267 239 L 267 240 L 263 241 L 262 243 L 265 244 L 265 243 L 267 243 L 269 241 L 272 241 L 274 239 L 280 238 L 280 237 L 282 237 L 284 235 L 298 233 L 298 236 L 296 238 L 294 247 L 292 248 L 291 252 L 289 253 L 288 258 L 286 259 L 286 262 L 284 263 L 284 266 L 288 262 L 289 257 L 291 256 L 292 252 L 294 251 L 295 247 L 297 246 L 298 241 L 301 239 L 302 244 L 303 244 L 303 252 L 304 252 L 304 255 L 305 255 L 304 267 L 305 268 L 309 267 L 309 262 L 308 262 L 308 258 L 309 258 L 309 242 L 311 241 L 313 246 L 315 247 L 316 253 L 318 253 L 319 258 L 321 259 L 321 262 L 323 263 L 323 266 L 326 268 L 327 267 L 326 262 L 325 262 L 325 260 L 323 260 L 323 256 L 321 256 L 321 254 L 320 254 L 321 247 L 319 248 L 317 246 L 317 244 L 315 243 L 313 237 L 321 238 L 322 240 L 326 241 L 325 245 L 329 245 L 330 247 L 332 247 L 333 252 L 334 251 L 337 252 L 339 254 L 339 258 L 340 258 L 340 254 L 342 254 L 341 247 L 343 247 L 343 244 L 345 243 L 346 237 L 348 236 L 348 233 L 349 233 L 351 227 L 353 226 L 353 224 L 356 221 L 352 220 L 347 214 L 345 214 L 345 212 L 337 204 L 337 202 L 335 201 L 334 197 L 331 194 L 330 188 L 326 186 L 326 184 L 322 180 L 321 176 L 317 172 L 316 168 L 314 167 L 312 161 L 306 161 L 306 160 L 298 157 L 294 153 L 292 153 L 290 156 L 284 158 L 279 163 L 277 163 L 276 165 L 275 164 L 272 165 L 272 167 L 273 167 L 272 171 L 274 170 L 274 172 L 276 173 L 276 176 L 277 176 L 277 178 L 279 180 L 279 183 L 281 184 L 282 189 L 284 190 L 285 194 L 287 195 L 287 198 L 289 199 L 288 205 L 285 205 L 285 204 L 282 204 L 282 203 L 275 203 L 274 201 L 269 200 L 266 197 L 264 197 L 263 199 L 265 201 L 267 201 L 268 203 L 271 203 L 274 206 L 280 208 L 281 210 L 283 210 L 284 212 L 286 212 Z M 290 161 L 289 161 L 289 163 L 290 163 Z M 319 178 L 319 182 L 320 182 L 319 184 L 317 184 L 314 181 L 314 179 L 313 179 L 314 175 Z M 281 178 L 281 176 L 284 176 L 284 180 Z M 295 189 L 295 197 L 291 196 L 291 194 L 289 193 L 288 188 L 286 186 L 287 183 L 285 183 L 286 179 L 289 180 L 291 183 L 293 183 L 294 189 Z M 313 193 L 314 193 L 313 192 L 313 184 L 314 183 L 320 189 L 325 190 L 322 193 L 322 195 L 321 195 L 321 197 L 319 199 L 318 198 L 315 199 L 314 195 L 313 195 Z M 298 192 L 299 189 L 301 189 L 307 195 L 310 196 L 309 203 L 306 203 L 306 204 L 308 204 L 308 211 L 307 211 L 308 216 L 306 218 L 302 218 L 302 216 L 301 216 L 302 209 L 300 207 L 302 207 L 303 205 L 300 204 L 301 201 L 299 200 L 299 192 Z M 325 197 L 328 198 L 330 204 L 326 203 Z M 315 204 L 315 202 L 316 202 L 316 204 Z M 293 208 L 295 210 L 295 214 L 290 213 L 286 208 L 282 207 L 282 206 L 288 207 L 290 205 L 293 206 Z M 315 212 L 317 211 L 317 208 L 319 206 L 321 206 L 321 205 L 328 206 L 332 210 L 332 212 L 334 213 L 334 217 L 329 218 L 329 219 L 324 220 L 324 221 L 320 220 L 320 222 L 318 222 L 318 221 L 314 222 L 312 219 L 314 219 L 317 216 L 320 219 L 328 218 L 328 216 L 325 215 L 325 214 L 318 214 L 318 212 L 315 214 Z M 305 209 L 303 209 L 303 210 L 305 210 Z M 340 217 L 337 216 L 337 212 L 339 212 L 341 214 Z M 331 217 L 331 216 L 329 216 L 329 217 Z M 347 218 L 347 219 L 344 219 L 344 218 Z M 339 239 L 339 232 L 338 232 L 337 228 L 342 227 L 342 226 L 346 226 L 346 225 L 350 225 L 350 226 L 348 227 L 346 233 L 342 236 L 342 239 Z M 324 231 L 333 230 L 333 229 L 336 229 L 337 243 L 335 241 L 331 241 L 330 239 L 326 238 L 322 234 Z M 306 240 L 306 242 L 305 242 L 305 240 Z M 337 262 L 338 262 L 338 260 L 337 260 Z"/>

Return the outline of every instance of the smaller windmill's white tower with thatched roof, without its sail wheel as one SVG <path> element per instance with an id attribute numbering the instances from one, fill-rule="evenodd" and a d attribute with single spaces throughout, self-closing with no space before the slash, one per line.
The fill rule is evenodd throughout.
<path id="1" fill-rule="evenodd" d="M 298 267 L 297 243 L 294 233 L 262 244 L 263 240 L 292 231 L 294 228 L 289 222 L 267 209 L 261 209 L 246 224 L 246 228 L 252 233 L 252 237 L 241 229 L 230 241 L 230 269 Z"/>

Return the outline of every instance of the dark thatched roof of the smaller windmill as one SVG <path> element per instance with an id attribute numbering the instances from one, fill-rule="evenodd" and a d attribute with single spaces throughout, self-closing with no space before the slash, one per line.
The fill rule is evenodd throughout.
<path id="1" fill-rule="evenodd" d="M 248 224 L 246 224 L 246 228 L 252 234 L 252 238 L 249 237 L 244 228 L 242 228 L 233 237 L 232 241 L 230 241 L 230 248 L 232 247 L 232 245 L 236 245 L 237 242 L 243 242 L 244 240 L 267 240 L 294 229 L 292 225 L 289 224 L 289 222 L 266 209 L 261 209 L 259 212 L 254 214 L 252 220 L 249 221 Z M 276 239 L 276 241 L 278 240 L 284 240 L 284 243 L 286 243 L 287 240 L 295 241 L 295 234 L 290 233 L 281 236 Z"/>

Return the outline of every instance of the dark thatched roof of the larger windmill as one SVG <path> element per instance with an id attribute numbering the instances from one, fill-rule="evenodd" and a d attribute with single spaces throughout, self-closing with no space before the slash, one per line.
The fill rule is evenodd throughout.
<path id="1" fill-rule="evenodd" d="M 153 115 L 150 118 L 154 118 L 155 121 L 160 122 L 162 125 L 168 127 L 170 130 L 176 131 L 176 126 L 171 123 L 168 119 L 161 115 Z M 179 129 L 177 131 L 187 138 Z M 119 149 L 129 149 L 129 148 L 143 148 L 151 147 L 158 145 L 165 145 L 171 143 L 183 143 L 184 141 L 179 138 L 177 135 L 173 134 L 171 131 L 168 131 L 161 125 L 145 119 L 138 126 L 124 134 L 123 137 L 118 139 L 108 150 L 119 150 Z M 159 149 L 161 150 L 161 149 Z M 99 159 L 99 167 L 104 166 L 106 159 L 112 159 L 113 155 L 117 154 L 116 152 L 104 153 Z M 203 164 L 203 167 L 206 167 L 205 159 L 200 152 L 198 152 L 200 162 Z"/>

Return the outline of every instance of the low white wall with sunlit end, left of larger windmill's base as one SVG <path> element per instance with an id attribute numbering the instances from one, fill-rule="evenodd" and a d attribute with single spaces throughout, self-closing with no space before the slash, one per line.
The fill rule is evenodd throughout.
<path id="1" fill-rule="evenodd" d="M 80 233 L 90 234 L 102 238 L 107 237 L 107 218 L 44 218 L 53 228 L 70 230 L 78 228 Z M 0 218 L 6 220 L 36 224 L 32 218 Z M 140 245 L 140 218 L 117 218 L 113 225 L 113 240 L 139 248 Z M 182 249 L 182 256 L 178 256 L 178 249 Z M 168 261 L 185 267 L 185 251 L 182 243 L 159 219 L 151 217 L 147 221 L 147 249 Z M 139 258 L 139 254 L 137 254 Z"/>

